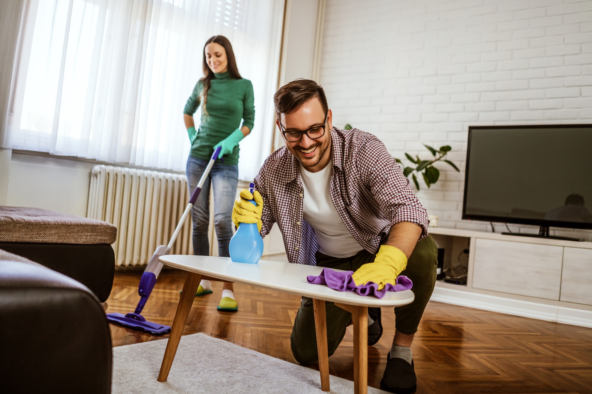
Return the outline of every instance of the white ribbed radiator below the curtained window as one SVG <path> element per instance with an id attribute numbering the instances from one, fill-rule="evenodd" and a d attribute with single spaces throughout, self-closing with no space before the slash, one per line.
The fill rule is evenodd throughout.
<path id="1" fill-rule="evenodd" d="M 158 245 L 169 242 L 188 202 L 185 175 L 95 165 L 86 217 L 117 226 L 115 265 L 145 265 Z M 188 217 L 172 254 L 193 254 L 191 229 Z"/>

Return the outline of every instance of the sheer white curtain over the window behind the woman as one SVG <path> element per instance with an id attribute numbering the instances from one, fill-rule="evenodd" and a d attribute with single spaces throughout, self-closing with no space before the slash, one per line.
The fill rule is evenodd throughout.
<path id="1" fill-rule="evenodd" d="M 255 89 L 240 178 L 271 148 L 284 1 L 27 0 L 2 146 L 184 170 L 183 108 L 207 38 L 225 35 Z M 200 113 L 195 114 L 199 122 Z"/>

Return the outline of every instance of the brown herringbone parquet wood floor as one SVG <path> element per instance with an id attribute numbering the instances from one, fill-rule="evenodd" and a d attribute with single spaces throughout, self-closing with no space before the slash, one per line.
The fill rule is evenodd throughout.
<path id="1" fill-rule="evenodd" d="M 107 312 L 134 310 L 140 276 L 115 273 Z M 144 317 L 172 324 L 184 279 L 184 272 L 163 271 Z M 206 333 L 295 363 L 289 336 L 300 297 L 236 284 L 239 311 L 229 313 L 216 310 L 220 292 L 221 284 L 215 282 L 213 294 L 195 299 L 184 334 Z M 368 348 L 368 384 L 373 387 L 379 387 L 394 335 L 392 311 L 383 308 L 382 320 L 384 334 Z M 113 346 L 166 338 L 110 326 Z M 349 380 L 351 330 L 329 359 L 330 373 Z M 412 349 L 417 393 L 592 393 L 592 328 L 430 302 Z"/>

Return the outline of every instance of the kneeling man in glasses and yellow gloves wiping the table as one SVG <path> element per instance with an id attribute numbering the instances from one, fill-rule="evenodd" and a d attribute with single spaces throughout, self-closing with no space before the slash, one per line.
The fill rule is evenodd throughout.
<path id="1" fill-rule="evenodd" d="M 257 223 L 262 235 L 278 223 L 289 262 L 355 271 L 356 285 L 382 288 L 398 275 L 413 281 L 415 300 L 395 308 L 395 336 L 381 388 L 416 389 L 411 343 L 436 282 L 437 247 L 427 236 L 426 209 L 384 144 L 374 135 L 333 128 L 323 88 L 295 80 L 274 96 L 285 146 L 271 154 L 242 190 L 233 221 Z M 257 206 L 247 200 L 254 198 Z M 368 308 L 368 345 L 382 334 L 380 308 Z M 326 302 L 329 356 L 351 314 Z M 294 358 L 318 362 L 313 300 L 303 297 L 290 337 Z"/>

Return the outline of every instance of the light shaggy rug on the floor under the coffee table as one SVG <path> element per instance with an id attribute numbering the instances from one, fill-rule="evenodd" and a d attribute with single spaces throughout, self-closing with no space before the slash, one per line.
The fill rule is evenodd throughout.
<path id="1" fill-rule="evenodd" d="M 112 392 L 323 393 L 316 370 L 201 333 L 181 338 L 167 382 L 157 382 L 167 341 L 114 347 Z M 331 376 L 330 382 L 330 393 L 353 393 L 350 380 Z M 385 392 L 369 387 L 368 393 Z"/>

